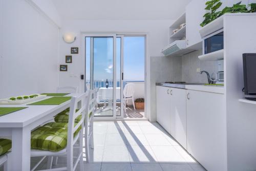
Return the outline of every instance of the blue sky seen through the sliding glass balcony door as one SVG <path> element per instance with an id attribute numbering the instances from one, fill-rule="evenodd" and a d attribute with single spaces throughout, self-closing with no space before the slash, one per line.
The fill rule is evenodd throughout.
<path id="1" fill-rule="evenodd" d="M 113 37 L 94 37 L 94 80 L 113 79 Z M 117 80 L 120 80 L 121 38 L 116 39 Z M 90 37 L 86 38 L 86 80 L 90 79 Z M 144 37 L 124 37 L 124 80 L 144 80 Z"/>

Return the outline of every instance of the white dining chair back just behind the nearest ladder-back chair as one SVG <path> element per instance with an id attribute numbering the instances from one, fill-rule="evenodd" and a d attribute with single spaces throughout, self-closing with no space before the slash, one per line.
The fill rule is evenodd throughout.
<path id="1" fill-rule="evenodd" d="M 84 142 L 86 148 L 86 161 L 87 163 L 90 160 L 90 153 L 89 153 L 89 145 L 91 144 L 91 148 L 94 148 L 94 141 L 93 141 L 93 118 L 94 118 L 94 111 L 95 106 L 97 103 L 97 94 L 98 89 L 93 90 L 90 97 L 89 108 L 86 115 L 86 121 L 84 122 Z"/>

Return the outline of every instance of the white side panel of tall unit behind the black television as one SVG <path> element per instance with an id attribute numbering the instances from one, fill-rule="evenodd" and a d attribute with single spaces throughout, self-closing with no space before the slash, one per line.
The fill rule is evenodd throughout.
<path id="1" fill-rule="evenodd" d="M 256 105 L 238 101 L 244 98 L 242 54 L 256 52 L 256 29 L 252 29 L 256 27 L 252 22 L 255 20 L 256 15 L 227 15 L 224 18 L 227 162 L 230 171 L 256 170 Z M 238 34 L 241 30 L 242 34 Z"/>

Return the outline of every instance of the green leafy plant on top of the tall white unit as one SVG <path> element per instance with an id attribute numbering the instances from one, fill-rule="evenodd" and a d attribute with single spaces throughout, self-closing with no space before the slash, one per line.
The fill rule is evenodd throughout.
<path id="1" fill-rule="evenodd" d="M 232 7 L 225 7 L 223 8 L 223 10 L 221 11 L 217 11 L 221 5 L 222 2 L 220 2 L 220 0 L 211 0 L 211 1 L 207 1 L 205 3 L 206 5 L 206 10 L 208 10 L 209 12 L 207 12 L 206 14 L 204 14 L 204 20 L 203 22 L 200 24 L 200 26 L 205 26 L 208 23 L 212 22 L 213 20 L 215 20 L 216 18 L 222 16 L 225 13 L 249 13 L 249 12 L 256 12 L 256 4 L 249 4 L 248 7 L 246 7 L 246 5 L 241 4 L 241 2 L 234 4 Z M 250 10 L 248 8 L 251 8 Z"/>

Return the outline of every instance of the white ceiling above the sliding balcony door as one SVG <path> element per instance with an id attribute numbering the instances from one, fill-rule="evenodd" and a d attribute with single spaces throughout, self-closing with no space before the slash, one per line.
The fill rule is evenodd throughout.
<path id="1" fill-rule="evenodd" d="M 176 19 L 191 0 L 52 0 L 62 19 Z"/>

